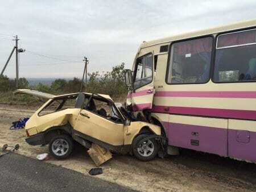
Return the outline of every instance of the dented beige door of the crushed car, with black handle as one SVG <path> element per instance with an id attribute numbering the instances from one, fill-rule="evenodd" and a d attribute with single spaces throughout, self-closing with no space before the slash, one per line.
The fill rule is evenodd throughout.
<path id="1" fill-rule="evenodd" d="M 88 139 L 96 139 L 110 145 L 123 145 L 123 123 L 115 123 L 97 111 L 98 108 L 83 108 L 77 116 L 75 130 Z"/>

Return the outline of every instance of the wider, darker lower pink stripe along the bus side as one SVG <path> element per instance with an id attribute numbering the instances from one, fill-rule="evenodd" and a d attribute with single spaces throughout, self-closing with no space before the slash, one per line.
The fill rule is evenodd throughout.
<path id="1" fill-rule="evenodd" d="M 152 108 L 152 112 L 165 112 L 170 114 L 181 114 L 181 115 L 212 116 L 212 117 L 221 117 L 221 118 L 256 120 L 256 111 L 252 111 L 252 110 L 154 106 Z"/>

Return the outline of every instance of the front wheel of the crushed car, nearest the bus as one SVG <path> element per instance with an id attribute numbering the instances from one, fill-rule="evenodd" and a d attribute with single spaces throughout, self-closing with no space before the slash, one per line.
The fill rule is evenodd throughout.
<path id="1" fill-rule="evenodd" d="M 141 161 L 150 161 L 158 154 L 159 144 L 155 139 L 143 141 L 151 134 L 141 134 L 135 137 L 132 144 L 133 155 Z"/>

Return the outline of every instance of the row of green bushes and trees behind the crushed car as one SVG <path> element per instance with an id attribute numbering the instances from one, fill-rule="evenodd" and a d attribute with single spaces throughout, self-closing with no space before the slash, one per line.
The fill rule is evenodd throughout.
<path id="1" fill-rule="evenodd" d="M 118 98 L 122 101 L 126 97 L 127 89 L 124 79 L 124 68 L 125 65 L 115 65 L 110 72 L 92 72 L 88 73 L 87 84 L 83 86 L 84 92 L 88 93 L 101 93 L 108 94 L 113 98 Z M 51 93 L 51 94 L 65 94 L 65 93 L 76 93 L 80 91 L 81 79 L 74 77 L 73 80 L 56 79 L 51 85 L 44 85 L 39 83 L 36 86 L 29 86 L 26 78 L 19 78 L 19 89 L 35 89 L 38 91 Z M 0 76 L 0 92 L 14 91 L 15 80 L 10 80 L 7 76 Z M 30 97 L 20 96 L 10 97 L 13 101 L 26 102 Z"/>

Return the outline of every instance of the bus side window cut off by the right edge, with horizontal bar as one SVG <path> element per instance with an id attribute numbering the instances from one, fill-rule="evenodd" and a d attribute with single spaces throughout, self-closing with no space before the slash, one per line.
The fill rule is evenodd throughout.
<path id="1" fill-rule="evenodd" d="M 213 81 L 256 81 L 255 29 L 218 36 Z"/>

